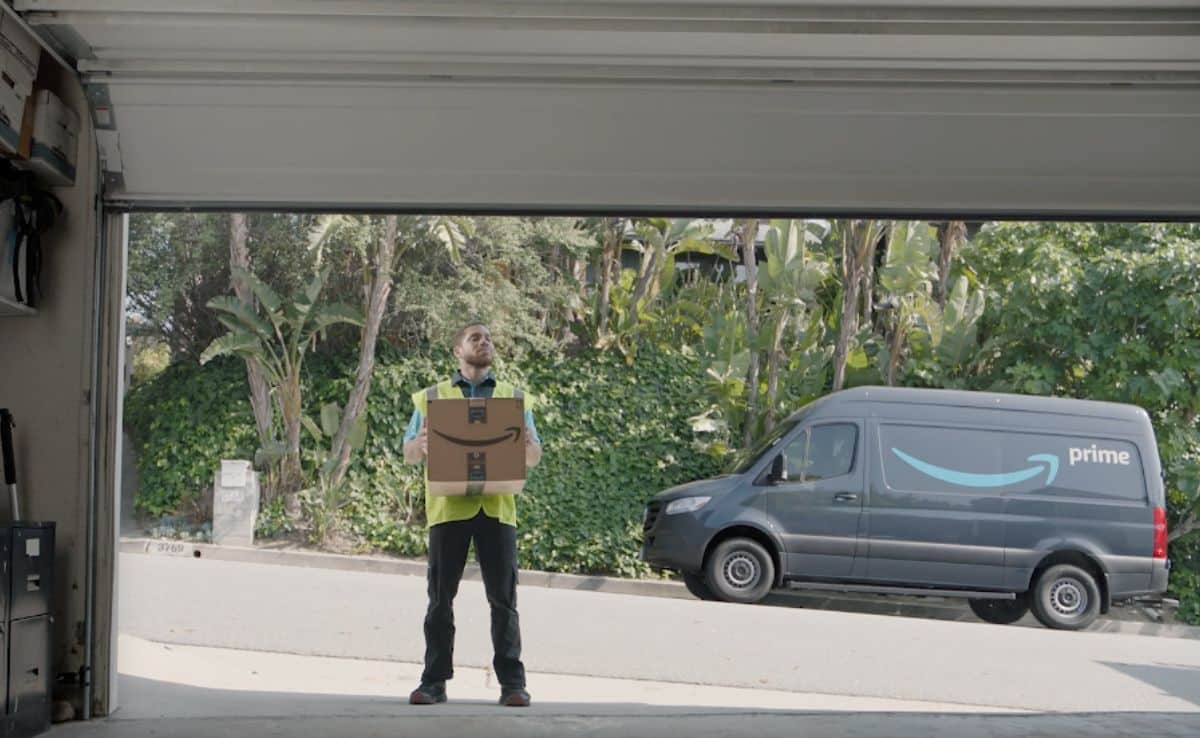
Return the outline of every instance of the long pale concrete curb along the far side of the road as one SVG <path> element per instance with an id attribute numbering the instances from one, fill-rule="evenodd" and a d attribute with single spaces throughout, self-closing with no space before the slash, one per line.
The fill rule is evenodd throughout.
<path id="1" fill-rule="evenodd" d="M 194 544 L 174 540 L 146 538 L 122 538 L 121 553 L 143 553 L 150 556 L 173 556 L 181 558 L 206 558 L 218 562 L 236 562 L 245 564 L 268 564 L 275 566 L 301 566 L 310 569 L 331 569 L 336 571 L 358 571 L 364 574 L 390 574 L 403 576 L 425 576 L 426 564 L 420 559 L 397 559 L 379 556 L 347 556 L 344 553 L 322 553 L 316 551 L 296 551 L 290 548 L 258 548 L 246 546 L 217 546 L 215 544 Z M 570 589 L 576 592 L 601 592 L 606 594 L 631 594 L 650 598 L 672 598 L 680 600 L 695 599 L 682 582 L 653 580 L 623 580 L 606 576 L 582 576 L 576 574 L 554 574 L 550 571 L 520 570 L 522 587 L 545 587 L 548 589 Z M 464 580 L 479 580 L 479 565 L 467 564 Z M 959 601 L 944 598 L 930 598 L 934 601 L 913 601 L 916 598 L 902 595 L 872 596 L 864 600 L 852 594 L 836 592 L 776 590 L 772 596 L 803 601 L 804 607 L 814 610 L 845 610 L 869 614 L 906 614 L 910 617 L 936 617 L 947 610 L 967 611 Z M 952 618 L 956 619 L 956 618 Z M 964 617 L 964 622 L 974 622 L 973 617 Z M 1150 623 L 1145 620 L 1118 620 L 1105 618 L 1097 620 L 1085 632 L 1124 634 L 1156 636 L 1168 638 L 1200 640 L 1200 628 L 1170 623 Z"/>

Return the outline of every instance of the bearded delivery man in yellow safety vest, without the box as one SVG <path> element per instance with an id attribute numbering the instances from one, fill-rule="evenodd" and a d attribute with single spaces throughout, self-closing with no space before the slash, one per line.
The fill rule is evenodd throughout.
<path id="1" fill-rule="evenodd" d="M 492 376 L 492 336 L 482 323 L 464 325 L 454 337 L 458 371 L 446 380 L 413 395 L 413 418 L 404 434 L 404 461 L 421 463 L 428 456 L 430 400 L 524 397 L 526 466 L 541 461 L 541 442 L 534 426 L 530 398 Z M 425 491 L 430 526 L 428 595 L 425 614 L 425 672 L 409 695 L 410 704 L 445 702 L 445 682 L 454 676 L 454 598 L 458 593 L 467 548 L 475 541 L 487 602 L 492 608 L 492 661 L 500 680 L 500 704 L 528 707 L 524 665 L 521 662 L 521 626 L 517 617 L 517 517 L 514 494 L 430 494 Z"/>

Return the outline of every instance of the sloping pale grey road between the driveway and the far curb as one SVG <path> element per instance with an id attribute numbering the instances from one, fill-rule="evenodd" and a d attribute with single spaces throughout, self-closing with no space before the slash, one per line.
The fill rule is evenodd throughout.
<path id="1" fill-rule="evenodd" d="M 419 662 L 414 576 L 122 554 L 121 631 L 150 641 Z M 1044 712 L 1200 712 L 1200 641 L 606 593 L 520 592 L 538 672 Z M 478 581 L 456 660 L 486 667 Z M 714 706 L 716 707 L 716 706 Z"/>

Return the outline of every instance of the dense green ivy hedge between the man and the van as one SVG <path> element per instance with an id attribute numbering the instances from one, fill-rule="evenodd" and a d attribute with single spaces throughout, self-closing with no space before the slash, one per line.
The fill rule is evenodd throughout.
<path id="1" fill-rule="evenodd" d="M 522 558 L 548 571 L 643 571 L 637 560 L 646 502 L 666 487 L 712 476 L 720 463 L 694 448 L 688 418 L 707 409 L 700 367 L 642 353 L 538 364 L 524 383 L 542 398 L 545 444 L 521 500 Z"/>

